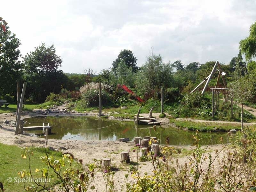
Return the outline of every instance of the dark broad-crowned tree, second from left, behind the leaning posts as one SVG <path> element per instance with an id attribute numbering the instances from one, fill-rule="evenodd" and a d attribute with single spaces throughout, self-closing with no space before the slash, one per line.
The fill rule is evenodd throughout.
<path id="1" fill-rule="evenodd" d="M 56 54 L 53 44 L 47 47 L 43 43 L 35 47 L 35 51 L 27 53 L 23 60 L 29 90 L 26 96 L 37 102 L 43 102 L 51 92 L 59 93 L 62 84 L 68 79 L 58 69 L 61 63 L 62 60 Z"/>

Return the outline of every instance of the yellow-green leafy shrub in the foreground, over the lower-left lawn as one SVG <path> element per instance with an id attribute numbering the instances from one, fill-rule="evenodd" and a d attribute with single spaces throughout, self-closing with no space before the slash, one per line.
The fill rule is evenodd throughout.
<path id="1" fill-rule="evenodd" d="M 50 156 L 47 148 L 45 148 L 45 155 L 40 157 L 42 168 L 37 167 L 32 170 L 30 160 L 34 155 L 33 147 L 22 148 L 21 156 L 28 158 L 28 171 L 21 170 L 18 172 L 21 179 L 36 178 L 36 174 L 41 174 L 41 180 L 34 180 L 32 185 L 24 183 L 24 189 L 29 192 L 38 191 L 40 189 L 48 190 L 50 187 L 49 180 L 58 179 L 60 186 L 58 191 L 87 191 L 94 177 L 95 164 L 89 164 L 88 170 L 83 170 L 83 160 L 79 159 L 74 164 L 74 156 L 70 154 L 62 155 L 62 158 L 55 158 Z M 91 188 L 95 188 L 91 186 Z"/>

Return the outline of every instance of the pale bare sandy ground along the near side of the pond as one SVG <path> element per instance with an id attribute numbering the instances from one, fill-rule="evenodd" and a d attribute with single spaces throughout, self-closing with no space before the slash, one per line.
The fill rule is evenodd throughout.
<path id="1" fill-rule="evenodd" d="M 32 116 L 36 116 L 38 114 L 35 113 L 22 113 L 22 118 L 28 118 Z M 54 114 L 52 114 L 54 115 Z M 72 115 L 84 115 L 79 113 L 74 113 Z M 88 114 L 94 115 L 94 114 Z M 141 115 L 148 115 L 148 114 L 141 114 Z M 153 116 L 159 117 L 159 114 L 152 114 Z M 35 147 L 44 147 L 44 139 L 43 138 L 35 138 L 30 137 L 28 135 L 15 135 L 15 118 L 16 113 L 5 113 L 0 114 L 0 140 L 1 143 L 8 144 L 8 145 L 17 145 L 19 147 L 30 147 L 33 143 Z M 160 121 L 166 123 L 169 122 L 168 118 L 159 119 Z M 124 164 L 121 162 L 120 156 L 122 151 L 130 150 L 130 156 L 132 161 L 137 162 L 138 153 L 137 150 L 133 152 L 131 149 L 134 147 L 133 141 L 130 142 L 119 142 L 119 141 L 98 141 L 98 140 L 48 140 L 48 147 L 59 149 L 60 147 L 64 147 L 67 150 L 66 152 L 72 153 L 75 158 L 83 159 L 84 165 L 93 163 L 94 160 L 96 164 L 100 165 L 100 160 L 102 158 L 110 158 L 111 165 L 119 168 L 120 170 L 115 174 L 115 184 L 117 191 L 120 191 L 120 183 L 124 183 L 124 174 L 127 174 L 129 165 Z M 191 149 L 190 147 L 183 147 L 180 148 L 187 148 Z M 222 148 L 221 145 L 214 145 L 210 146 L 210 148 L 214 151 L 215 149 Z M 179 163 L 182 165 L 185 162 L 188 162 L 188 157 L 185 155 L 180 154 L 179 157 L 175 157 L 179 159 Z M 152 173 L 153 166 L 149 162 L 139 162 L 141 167 L 141 173 L 147 172 L 148 174 Z M 106 190 L 106 185 L 100 172 L 100 169 L 96 170 L 95 178 L 92 185 L 95 185 L 98 188 L 98 191 Z M 143 175 L 143 174 L 142 174 Z M 132 178 L 129 176 L 128 180 L 132 181 Z"/>

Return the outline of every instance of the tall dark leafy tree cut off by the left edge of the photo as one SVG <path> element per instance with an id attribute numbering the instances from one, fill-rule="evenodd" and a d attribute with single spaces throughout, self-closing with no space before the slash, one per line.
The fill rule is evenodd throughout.
<path id="1" fill-rule="evenodd" d="M 0 97 L 7 93 L 14 95 L 17 90 L 16 80 L 22 76 L 22 65 L 19 60 L 21 54 L 18 49 L 20 40 L 12 34 L 8 26 L 5 28 L 5 32 L 0 28 Z"/>

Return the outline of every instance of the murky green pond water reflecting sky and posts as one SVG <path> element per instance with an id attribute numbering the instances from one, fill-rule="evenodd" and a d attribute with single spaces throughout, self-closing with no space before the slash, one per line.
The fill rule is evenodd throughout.
<path id="1" fill-rule="evenodd" d="M 59 116 L 59 117 L 31 117 L 24 119 L 24 126 L 46 125 L 53 126 L 49 139 L 59 140 L 118 140 L 119 138 L 157 137 L 165 144 L 165 138 L 170 138 L 170 145 L 192 145 L 194 131 L 178 130 L 167 125 L 157 125 L 156 131 L 150 125 L 138 125 L 136 129 L 133 121 L 114 121 L 100 117 L 88 116 Z M 44 138 L 42 131 L 28 131 L 27 133 Z M 202 145 L 219 144 L 220 137 L 228 142 L 227 133 L 202 132 L 200 141 Z"/>

